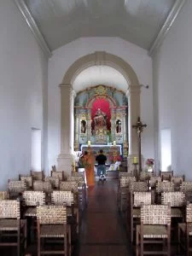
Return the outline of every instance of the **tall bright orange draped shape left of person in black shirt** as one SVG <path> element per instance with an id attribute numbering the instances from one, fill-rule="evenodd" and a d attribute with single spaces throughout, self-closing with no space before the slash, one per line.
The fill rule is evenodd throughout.
<path id="1" fill-rule="evenodd" d="M 95 173 L 94 173 L 94 165 L 95 165 L 95 157 L 92 154 L 91 149 L 89 151 L 84 151 L 84 155 L 81 158 L 82 163 L 84 165 L 84 170 L 87 179 L 87 186 L 95 185 Z"/>

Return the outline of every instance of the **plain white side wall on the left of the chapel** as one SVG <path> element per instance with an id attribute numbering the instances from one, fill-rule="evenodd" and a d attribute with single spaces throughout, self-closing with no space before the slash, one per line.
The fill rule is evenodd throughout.
<path id="1" fill-rule="evenodd" d="M 5 189 L 8 178 L 30 171 L 32 127 L 42 130 L 46 153 L 48 74 L 47 59 L 12 0 L 0 1 L 0 35 L 0 189 Z"/>

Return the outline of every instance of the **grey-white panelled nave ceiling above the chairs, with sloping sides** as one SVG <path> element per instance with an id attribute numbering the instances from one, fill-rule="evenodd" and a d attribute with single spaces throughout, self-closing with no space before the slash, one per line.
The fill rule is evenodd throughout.
<path id="1" fill-rule="evenodd" d="M 149 50 L 168 19 L 166 25 L 172 25 L 185 0 L 15 2 L 25 5 L 28 23 L 34 19 L 50 51 L 81 37 L 119 37 Z"/>

